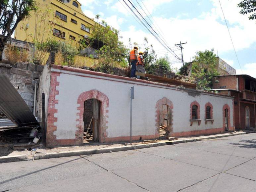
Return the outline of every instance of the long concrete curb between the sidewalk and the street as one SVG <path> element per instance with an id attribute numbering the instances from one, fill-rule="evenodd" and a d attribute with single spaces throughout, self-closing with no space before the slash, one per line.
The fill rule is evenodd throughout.
<path id="1" fill-rule="evenodd" d="M 199 137 L 199 138 L 188 138 L 188 139 L 183 139 L 183 140 L 174 140 L 174 141 L 168 142 L 168 143 L 157 142 L 157 143 L 138 144 L 138 145 L 134 145 L 134 146 L 122 146 L 122 147 L 106 148 L 106 149 L 63 151 L 63 152 L 53 152 L 53 153 L 36 153 L 33 157 L 29 156 L 29 155 L 3 156 L 3 157 L 0 157 L 0 163 L 30 161 L 32 159 L 39 160 L 39 159 L 72 157 L 72 156 L 80 156 L 80 155 L 92 155 L 92 154 L 99 154 L 99 153 L 111 153 L 111 152 L 118 152 L 118 151 L 143 149 L 143 148 L 149 148 L 149 147 L 159 147 L 159 146 L 164 146 L 164 145 L 174 145 L 174 144 L 178 144 L 178 143 L 187 143 L 187 142 L 195 142 L 195 141 L 202 141 L 202 140 L 210 140 L 210 139 L 216 139 L 216 138 L 221 138 L 221 137 L 244 135 L 244 134 L 248 134 L 248 133 L 256 133 L 256 131 L 238 132 L 238 133 L 224 133 L 224 134 L 221 134 L 221 135 L 214 135 L 214 136 L 209 135 L 209 136 L 202 136 L 202 137 Z"/>

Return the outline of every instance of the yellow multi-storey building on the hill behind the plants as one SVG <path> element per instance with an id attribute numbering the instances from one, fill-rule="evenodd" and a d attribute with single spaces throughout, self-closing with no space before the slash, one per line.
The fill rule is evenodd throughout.
<path id="1" fill-rule="evenodd" d="M 47 17 L 47 22 L 53 21 L 50 30 L 40 26 L 40 18 L 36 18 L 34 13 L 28 20 L 18 24 L 15 31 L 15 39 L 31 42 L 36 37 L 40 41 L 53 38 L 69 42 L 74 46 L 79 40 L 90 36 L 90 28 L 95 24 L 94 20 L 85 16 L 81 10 L 81 4 L 76 0 L 35 0 L 42 10 L 50 8 L 52 13 Z M 38 16 L 37 16 L 38 17 Z M 49 18 L 49 19 L 48 19 Z M 24 30 L 26 28 L 26 32 Z M 48 32 L 47 32 L 48 30 Z M 37 32 L 35 32 L 37 31 Z M 38 32 L 40 31 L 40 32 Z M 49 34 L 49 35 L 48 35 Z M 34 38 L 34 39 L 36 39 Z"/>

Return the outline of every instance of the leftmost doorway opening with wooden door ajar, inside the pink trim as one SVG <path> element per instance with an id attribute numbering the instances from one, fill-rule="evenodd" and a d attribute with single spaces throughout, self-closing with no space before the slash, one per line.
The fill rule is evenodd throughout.
<path id="1" fill-rule="evenodd" d="M 100 106 L 97 99 L 84 101 L 83 143 L 99 142 Z"/>

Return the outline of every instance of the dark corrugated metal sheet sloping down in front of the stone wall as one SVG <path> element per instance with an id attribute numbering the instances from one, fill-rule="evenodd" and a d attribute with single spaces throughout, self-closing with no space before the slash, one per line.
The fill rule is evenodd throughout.
<path id="1" fill-rule="evenodd" d="M 38 125 L 26 102 L 3 74 L 0 74 L 0 111 L 18 126 Z"/>

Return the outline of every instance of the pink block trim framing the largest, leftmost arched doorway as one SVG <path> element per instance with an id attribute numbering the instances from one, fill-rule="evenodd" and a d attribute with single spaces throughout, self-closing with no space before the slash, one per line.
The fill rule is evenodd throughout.
<path id="1" fill-rule="evenodd" d="M 101 102 L 100 124 L 99 124 L 99 142 L 100 143 L 106 142 L 106 138 L 108 135 L 106 129 L 108 128 L 108 126 L 107 126 L 107 123 L 108 123 L 107 108 L 109 107 L 109 99 L 104 93 L 102 93 L 98 90 L 85 91 L 78 96 L 77 104 L 79 106 L 77 107 L 77 110 L 79 111 L 79 113 L 77 113 L 78 119 L 76 120 L 78 122 L 76 125 L 76 127 L 78 128 L 78 131 L 76 132 L 76 136 L 78 138 L 83 139 L 84 101 L 86 101 L 88 99 L 97 99 Z"/>

